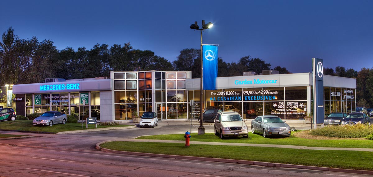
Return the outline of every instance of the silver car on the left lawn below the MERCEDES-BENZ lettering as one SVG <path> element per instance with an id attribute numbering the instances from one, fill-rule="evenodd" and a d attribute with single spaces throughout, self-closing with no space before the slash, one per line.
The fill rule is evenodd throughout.
<path id="1" fill-rule="evenodd" d="M 57 123 L 65 124 L 67 120 L 66 114 L 62 114 L 58 111 L 47 111 L 32 121 L 32 124 L 37 125 L 49 125 L 52 126 Z"/>

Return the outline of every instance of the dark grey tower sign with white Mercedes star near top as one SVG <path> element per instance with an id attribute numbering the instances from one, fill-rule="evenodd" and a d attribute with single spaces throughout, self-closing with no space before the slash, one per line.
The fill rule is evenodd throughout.
<path id="1" fill-rule="evenodd" d="M 317 123 L 324 122 L 324 74 L 323 60 L 312 58 L 313 72 L 313 116 L 316 129 Z"/>

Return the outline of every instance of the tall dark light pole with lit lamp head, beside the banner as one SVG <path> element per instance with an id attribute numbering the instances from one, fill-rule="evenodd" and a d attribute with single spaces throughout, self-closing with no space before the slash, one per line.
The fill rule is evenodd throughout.
<path id="1" fill-rule="evenodd" d="M 203 104 L 203 54 L 202 54 L 202 31 L 205 29 L 209 29 L 213 26 L 211 22 L 205 24 L 205 20 L 202 20 L 202 28 L 199 29 L 200 27 L 197 25 L 197 22 L 194 22 L 194 24 L 190 25 L 190 29 L 194 30 L 200 30 L 201 31 L 201 103 L 200 103 L 200 127 L 198 128 L 198 135 L 203 135 L 205 134 L 205 128 L 203 127 L 203 114 L 202 114 L 202 104 Z"/>

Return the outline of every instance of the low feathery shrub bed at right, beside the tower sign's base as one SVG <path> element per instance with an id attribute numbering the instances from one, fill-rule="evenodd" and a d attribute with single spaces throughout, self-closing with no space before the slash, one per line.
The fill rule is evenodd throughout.
<path id="1" fill-rule="evenodd" d="M 312 130 L 311 135 L 337 138 L 365 138 L 373 133 L 373 125 L 356 124 L 353 126 L 325 126 Z"/>

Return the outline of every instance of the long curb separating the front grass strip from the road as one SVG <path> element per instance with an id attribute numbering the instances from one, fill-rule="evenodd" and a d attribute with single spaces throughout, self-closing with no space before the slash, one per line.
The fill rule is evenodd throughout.
<path id="1" fill-rule="evenodd" d="M 350 170 L 350 169 L 343 169 L 343 168 L 313 167 L 313 166 L 305 166 L 305 165 L 280 164 L 280 163 L 272 163 L 272 162 L 258 162 L 258 161 L 222 159 L 222 158 L 207 158 L 207 157 L 194 157 L 194 156 L 181 156 L 181 155 L 151 154 L 151 153 L 144 153 L 144 152 L 116 151 L 116 150 L 100 147 L 101 144 L 106 143 L 106 142 L 112 142 L 112 141 L 115 141 L 115 140 L 99 142 L 96 144 L 95 148 L 98 149 L 99 151 L 111 152 L 115 154 L 125 154 L 125 155 L 141 155 L 141 156 L 148 156 L 148 157 L 174 158 L 174 159 L 183 159 L 183 160 L 200 160 L 200 161 L 210 161 L 210 162 L 225 162 L 225 163 L 233 163 L 233 164 L 260 165 L 264 167 L 275 167 L 275 168 L 298 168 L 298 169 L 306 169 L 306 170 L 319 170 L 319 171 L 332 171 L 332 172 L 340 172 L 340 173 L 373 175 L 373 171 L 366 171 L 366 170 Z"/>

